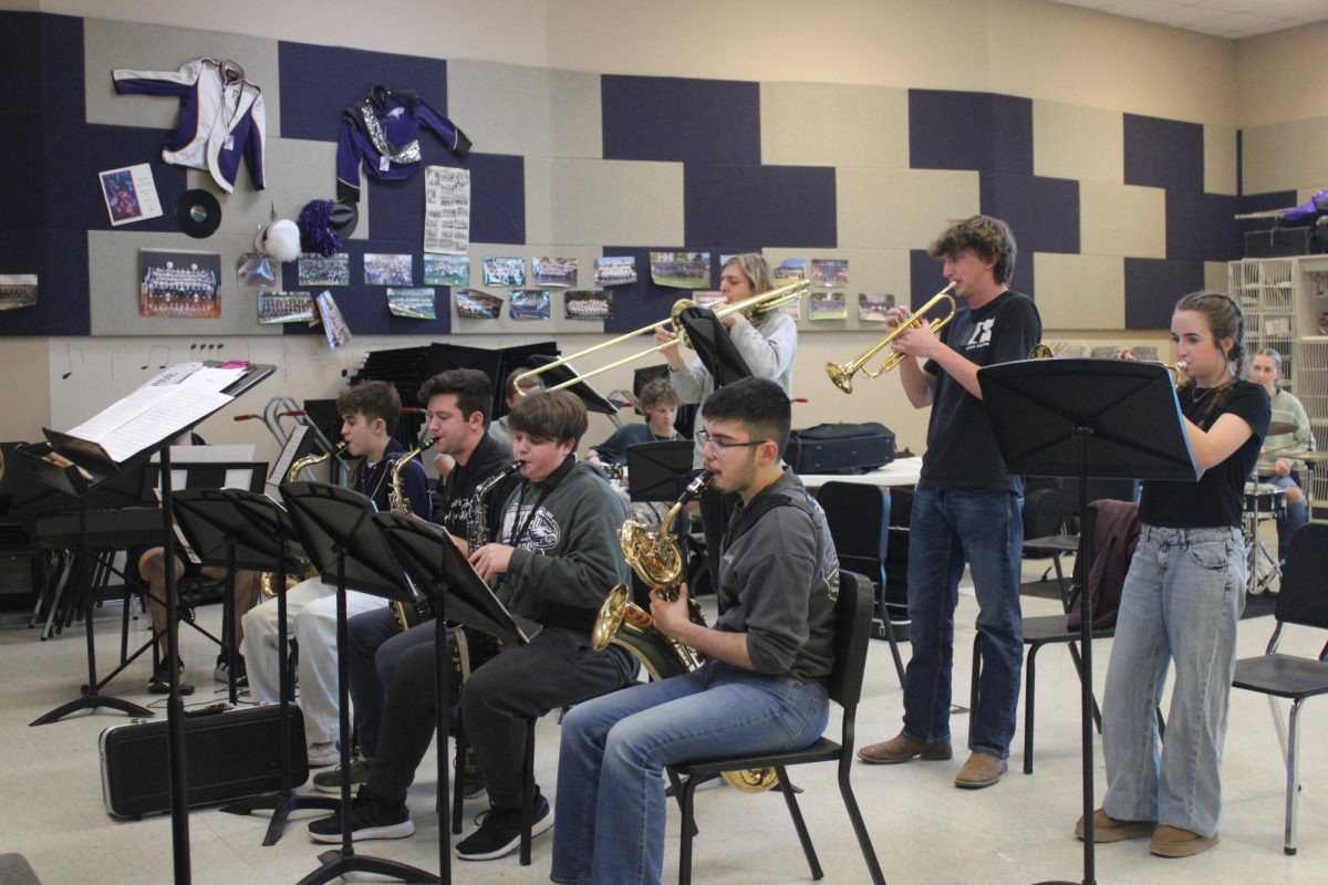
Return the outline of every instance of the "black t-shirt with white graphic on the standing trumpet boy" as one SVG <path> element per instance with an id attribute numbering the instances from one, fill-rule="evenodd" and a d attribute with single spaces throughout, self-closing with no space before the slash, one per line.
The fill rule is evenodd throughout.
<path id="1" fill-rule="evenodd" d="M 1042 338 L 1037 306 L 1027 295 L 1004 292 L 972 310 L 960 303 L 955 318 L 942 329 L 940 340 L 979 366 L 1025 360 Z M 996 446 L 983 401 L 928 360 L 923 372 L 935 375 L 927 454 L 922 479 L 934 486 L 1023 491 L 1023 480 L 1011 476 Z"/>

